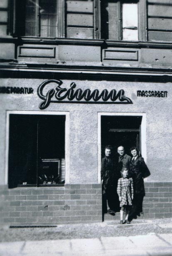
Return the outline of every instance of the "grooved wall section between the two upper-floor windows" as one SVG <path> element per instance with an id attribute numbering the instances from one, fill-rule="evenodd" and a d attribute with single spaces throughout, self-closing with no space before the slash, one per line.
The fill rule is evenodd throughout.
<path id="1" fill-rule="evenodd" d="M 96 38 L 94 1 L 66 1 L 66 37 Z"/>

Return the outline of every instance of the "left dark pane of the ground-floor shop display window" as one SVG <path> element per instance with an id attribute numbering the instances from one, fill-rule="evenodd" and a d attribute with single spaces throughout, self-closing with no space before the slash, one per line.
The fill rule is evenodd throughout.
<path id="1" fill-rule="evenodd" d="M 37 183 L 37 124 L 30 115 L 10 114 L 9 187 Z"/>

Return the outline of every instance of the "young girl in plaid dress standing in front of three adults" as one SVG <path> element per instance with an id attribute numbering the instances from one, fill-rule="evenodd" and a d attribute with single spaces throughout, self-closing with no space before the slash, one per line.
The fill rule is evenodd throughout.
<path id="1" fill-rule="evenodd" d="M 117 187 L 117 193 L 119 196 L 120 201 L 120 224 L 130 224 L 130 221 L 128 221 L 128 214 L 130 207 L 132 206 L 132 200 L 133 200 L 133 179 L 128 178 L 128 169 L 123 168 L 122 171 L 122 178 L 118 179 L 118 187 Z M 123 222 L 123 216 L 125 211 L 125 221 Z"/>

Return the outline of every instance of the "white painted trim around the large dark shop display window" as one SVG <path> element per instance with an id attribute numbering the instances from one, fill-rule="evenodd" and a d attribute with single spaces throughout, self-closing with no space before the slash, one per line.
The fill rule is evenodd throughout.
<path id="1" fill-rule="evenodd" d="M 5 147 L 5 184 L 8 184 L 8 152 L 9 152 L 9 129 L 10 114 L 44 114 L 44 115 L 65 115 L 65 184 L 70 182 L 69 164 L 70 164 L 70 114 L 64 111 L 25 111 L 25 110 L 7 110 L 6 111 L 6 147 Z"/>

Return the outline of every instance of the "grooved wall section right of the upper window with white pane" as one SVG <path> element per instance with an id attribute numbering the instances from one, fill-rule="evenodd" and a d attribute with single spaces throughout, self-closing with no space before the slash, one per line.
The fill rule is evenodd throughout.
<path id="1" fill-rule="evenodd" d="M 172 41 L 172 1 L 148 0 L 148 40 Z"/>

